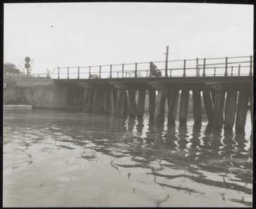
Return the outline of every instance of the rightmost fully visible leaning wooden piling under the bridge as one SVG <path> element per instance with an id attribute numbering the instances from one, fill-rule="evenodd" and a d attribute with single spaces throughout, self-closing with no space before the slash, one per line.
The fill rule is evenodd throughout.
<path id="1" fill-rule="evenodd" d="M 248 91 L 239 91 L 239 101 L 237 103 L 236 111 L 236 130 L 244 130 L 248 111 L 248 100 Z"/>

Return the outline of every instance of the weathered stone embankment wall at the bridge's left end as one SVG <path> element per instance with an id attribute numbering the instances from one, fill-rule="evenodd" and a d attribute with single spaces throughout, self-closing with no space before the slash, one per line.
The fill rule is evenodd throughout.
<path id="1" fill-rule="evenodd" d="M 83 102 L 76 88 L 57 85 L 47 78 L 4 78 L 3 104 L 31 104 L 51 109 L 80 109 Z M 83 89 L 81 89 L 83 90 Z"/>

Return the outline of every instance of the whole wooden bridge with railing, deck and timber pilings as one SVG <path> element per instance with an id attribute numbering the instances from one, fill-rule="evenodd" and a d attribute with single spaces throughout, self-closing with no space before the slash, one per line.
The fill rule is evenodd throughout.
<path id="1" fill-rule="evenodd" d="M 168 123 L 175 123 L 180 98 L 179 121 L 186 123 L 192 91 L 194 123 L 201 123 L 201 95 L 213 127 L 224 124 L 225 129 L 232 129 L 236 121 L 236 130 L 243 130 L 249 100 L 253 123 L 253 56 L 154 63 L 163 77 L 148 76 L 149 62 L 58 67 L 52 74 L 57 84 L 84 88 L 83 112 L 108 113 L 113 100 L 115 116 L 142 118 L 148 91 L 150 119 L 164 120 L 167 100 Z"/>

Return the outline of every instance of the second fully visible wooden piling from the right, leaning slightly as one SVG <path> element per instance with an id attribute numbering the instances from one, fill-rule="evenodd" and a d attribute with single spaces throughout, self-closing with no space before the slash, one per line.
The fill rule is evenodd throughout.
<path id="1" fill-rule="evenodd" d="M 234 120 L 236 115 L 236 91 L 228 91 L 225 103 L 225 130 L 229 130 L 234 126 Z"/>

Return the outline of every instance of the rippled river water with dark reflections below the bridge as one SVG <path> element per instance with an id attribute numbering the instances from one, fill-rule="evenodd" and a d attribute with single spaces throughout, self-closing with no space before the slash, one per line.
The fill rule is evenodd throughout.
<path id="1" fill-rule="evenodd" d="M 245 132 L 61 110 L 6 110 L 4 207 L 243 207 L 253 202 Z"/>

